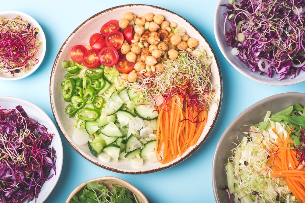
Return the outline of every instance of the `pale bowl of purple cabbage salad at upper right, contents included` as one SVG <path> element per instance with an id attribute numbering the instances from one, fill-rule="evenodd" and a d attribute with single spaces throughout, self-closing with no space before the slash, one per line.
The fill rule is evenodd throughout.
<path id="1" fill-rule="evenodd" d="M 305 80 L 304 2 L 220 0 L 214 18 L 217 44 L 246 77 L 268 85 Z"/>

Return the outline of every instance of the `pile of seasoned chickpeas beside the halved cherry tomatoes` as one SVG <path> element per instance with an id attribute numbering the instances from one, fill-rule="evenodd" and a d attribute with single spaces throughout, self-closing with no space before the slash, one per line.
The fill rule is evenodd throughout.
<path id="1" fill-rule="evenodd" d="M 184 28 L 177 28 L 177 23 L 164 20 L 160 14 L 136 16 L 126 12 L 119 20 L 119 26 L 124 29 L 130 24 L 134 25 L 133 40 L 131 44 L 124 41 L 120 51 L 126 54 L 129 62 L 135 63 L 135 70 L 121 74 L 122 81 L 134 82 L 143 74 L 148 76 L 155 71 L 162 73 L 163 60 L 176 59 L 179 49 L 191 52 L 199 44 L 199 40 L 185 34 Z M 179 29 L 179 32 L 174 32 L 174 29 Z"/>

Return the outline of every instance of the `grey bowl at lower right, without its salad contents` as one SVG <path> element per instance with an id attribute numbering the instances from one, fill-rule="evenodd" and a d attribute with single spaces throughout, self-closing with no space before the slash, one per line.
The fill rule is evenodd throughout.
<path id="1" fill-rule="evenodd" d="M 253 104 L 230 123 L 217 143 L 212 163 L 212 185 L 217 203 L 229 202 L 227 192 L 223 189 L 228 184 L 224 164 L 231 156 L 230 150 L 236 146 L 233 142 L 241 140 L 244 136 L 243 132 L 249 130 L 249 126 L 244 125 L 263 121 L 267 111 L 276 113 L 296 103 L 305 105 L 304 93 L 289 92 L 273 95 Z M 231 201 L 234 202 L 234 195 L 231 195 Z"/>

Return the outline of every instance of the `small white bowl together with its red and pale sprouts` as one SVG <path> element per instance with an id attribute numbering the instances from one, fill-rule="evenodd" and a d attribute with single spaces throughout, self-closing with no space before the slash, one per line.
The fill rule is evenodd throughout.
<path id="1" fill-rule="evenodd" d="M 45 57 L 45 34 L 38 22 L 19 11 L 0 12 L 0 79 L 28 77 Z"/>

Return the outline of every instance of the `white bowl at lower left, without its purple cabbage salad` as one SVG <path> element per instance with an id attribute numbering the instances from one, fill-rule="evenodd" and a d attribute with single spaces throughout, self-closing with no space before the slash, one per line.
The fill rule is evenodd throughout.
<path id="1" fill-rule="evenodd" d="M 33 103 L 15 97 L 8 97 L 8 96 L 0 96 L 0 106 L 5 109 L 16 109 L 16 106 L 21 105 L 24 111 L 27 113 L 29 117 L 38 121 L 41 125 L 44 125 L 48 129 L 48 133 L 54 133 L 52 138 L 52 146 L 56 150 L 56 173 L 52 169 L 50 171 L 50 175 L 54 174 L 50 180 L 45 181 L 45 183 L 41 187 L 41 191 L 38 194 L 38 198 L 30 201 L 29 203 L 38 203 L 44 202 L 48 196 L 51 194 L 52 190 L 54 189 L 55 185 L 57 184 L 61 170 L 63 167 L 63 145 L 60 139 L 59 132 L 50 119 L 50 117 L 38 106 L 34 105 Z M 27 203 L 27 199 L 21 203 Z"/>

